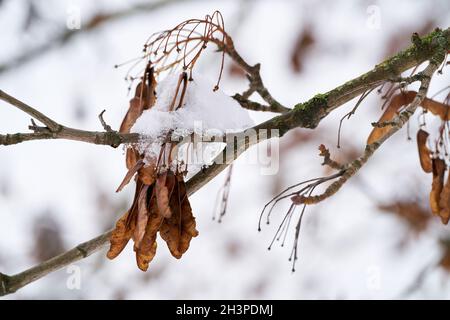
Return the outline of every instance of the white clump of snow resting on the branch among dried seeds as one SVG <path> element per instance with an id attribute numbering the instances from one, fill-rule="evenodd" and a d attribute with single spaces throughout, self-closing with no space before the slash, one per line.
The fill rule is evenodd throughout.
<path id="1" fill-rule="evenodd" d="M 187 137 L 192 133 L 221 136 L 254 125 L 247 110 L 224 92 L 213 91 L 215 83 L 199 74 L 188 83 L 182 107 L 176 111 L 167 111 L 174 98 L 178 79 L 178 74 L 169 74 L 158 83 L 155 105 L 144 111 L 131 128 L 131 132 L 145 136 L 138 150 L 145 154 L 146 159 L 158 157 L 162 141 L 171 130 L 176 137 Z M 178 96 L 180 94 L 181 87 Z M 196 164 L 208 164 L 208 160 L 220 152 L 223 146 L 223 143 L 210 142 L 197 145 L 196 149 L 207 152 L 209 156 L 203 156 L 203 161 Z M 180 158 L 185 149 L 180 148 Z"/>

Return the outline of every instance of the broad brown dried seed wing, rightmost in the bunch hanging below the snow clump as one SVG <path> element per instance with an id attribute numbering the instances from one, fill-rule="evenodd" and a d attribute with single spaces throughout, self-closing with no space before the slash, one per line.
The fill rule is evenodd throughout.
<path id="1" fill-rule="evenodd" d="M 170 198 L 172 216 L 164 219 L 160 235 L 166 241 L 170 253 L 177 259 L 187 251 L 193 237 L 198 235 L 195 218 L 186 194 L 186 185 L 181 175 L 177 175 L 176 184 Z"/>

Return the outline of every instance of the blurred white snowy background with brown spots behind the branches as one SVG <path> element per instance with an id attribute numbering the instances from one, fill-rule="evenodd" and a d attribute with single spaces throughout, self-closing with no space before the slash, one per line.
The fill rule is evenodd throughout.
<path id="1" fill-rule="evenodd" d="M 62 124 L 101 130 L 98 114 L 118 128 L 130 96 L 127 67 L 156 31 L 220 10 L 241 55 L 262 64 L 262 77 L 284 105 L 305 101 L 370 70 L 423 35 L 450 25 L 450 3 L 434 1 L 0 1 L 0 88 Z M 220 56 L 200 70 L 217 74 Z M 448 86 L 436 76 L 430 95 Z M 228 59 L 221 89 L 246 88 Z M 414 89 L 414 87 L 411 87 Z M 445 97 L 447 92 L 437 96 Z M 441 99 L 442 100 L 442 99 Z M 450 234 L 428 205 L 431 177 L 420 169 L 413 137 L 403 129 L 335 196 L 307 208 L 297 271 L 284 248 L 267 247 L 288 203 L 257 231 L 264 204 L 291 184 L 327 174 L 317 147 L 341 161 L 363 151 L 383 103 L 373 93 L 342 106 L 315 131 L 280 141 L 276 175 L 236 161 L 226 216 L 212 220 L 222 173 L 191 198 L 200 235 L 181 260 L 161 245 L 148 272 L 129 245 L 114 261 L 105 251 L 32 283 L 6 299 L 397 299 L 450 298 Z M 274 114 L 251 112 L 255 122 Z M 0 103 L 0 133 L 27 131 L 29 117 Z M 430 117 L 429 125 L 433 125 Z M 249 153 L 253 150 L 249 150 Z M 110 229 L 130 205 L 133 188 L 114 191 L 124 151 L 71 141 L 0 147 L 0 272 L 14 274 Z M 278 220 L 278 221 L 277 221 Z M 73 285 L 71 276 L 80 273 Z"/>

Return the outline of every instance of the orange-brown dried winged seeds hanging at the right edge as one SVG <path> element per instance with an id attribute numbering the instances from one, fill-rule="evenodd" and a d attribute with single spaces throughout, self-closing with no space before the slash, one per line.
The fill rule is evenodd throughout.
<path id="1" fill-rule="evenodd" d="M 415 96 L 416 92 L 414 91 L 400 92 L 394 95 L 389 100 L 388 106 L 378 120 L 378 124 L 385 123 L 386 125 L 374 128 L 367 139 L 367 144 L 372 144 L 383 138 L 392 126 L 388 124 L 389 121 L 392 121 L 405 106 L 411 103 Z M 448 98 L 444 103 L 425 98 L 421 107 L 424 111 L 429 111 L 442 120 L 439 138 L 435 143 L 434 150 L 430 150 L 427 146 L 429 133 L 423 129 L 417 131 L 417 147 L 419 150 L 420 165 L 423 171 L 433 174 L 430 192 L 431 211 L 441 218 L 443 224 L 447 224 L 450 220 L 450 175 L 447 175 L 447 181 L 445 182 L 445 173 L 448 165 L 444 160 L 447 152 L 443 140 L 445 137 L 444 129 L 447 126 L 447 121 L 450 119 Z M 442 147 L 445 150 L 441 150 Z M 444 156 L 442 156 L 442 154 L 444 154 Z"/>

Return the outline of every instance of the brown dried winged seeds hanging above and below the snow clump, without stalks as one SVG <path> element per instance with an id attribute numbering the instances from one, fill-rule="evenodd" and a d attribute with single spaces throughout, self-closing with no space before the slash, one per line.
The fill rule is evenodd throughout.
<path id="1" fill-rule="evenodd" d="M 187 75 L 183 73 L 177 92 L 183 85 L 180 102 L 187 86 Z M 137 85 L 135 96 L 130 101 L 130 107 L 120 127 L 120 132 L 127 133 L 141 116 L 144 110 L 151 108 L 156 100 L 156 80 L 151 63 L 147 65 L 142 81 Z M 174 110 L 174 97 L 169 111 Z M 128 173 L 117 191 L 120 191 L 134 177 L 136 192 L 131 208 L 117 221 L 107 253 L 114 259 L 133 239 L 136 262 L 139 269 L 146 271 L 156 254 L 157 234 L 167 243 L 171 254 L 179 259 L 189 248 L 190 241 L 198 235 L 195 218 L 188 200 L 184 172 L 179 166 L 173 170 L 172 143 L 161 147 L 158 159 L 144 163 L 144 156 L 134 147 L 127 149 L 126 165 Z"/>

